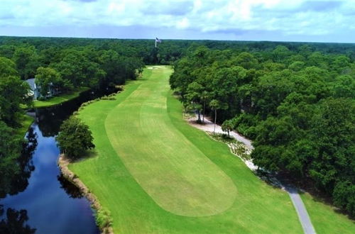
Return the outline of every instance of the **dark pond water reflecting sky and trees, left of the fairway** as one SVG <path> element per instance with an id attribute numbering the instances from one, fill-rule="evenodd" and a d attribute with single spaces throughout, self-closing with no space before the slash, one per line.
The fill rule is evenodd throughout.
<path id="1" fill-rule="evenodd" d="M 23 154 L 18 160 L 21 174 L 13 179 L 9 194 L 0 199 L 1 234 L 4 230 L 12 233 L 99 233 L 89 201 L 60 174 L 55 135 L 62 121 L 80 104 L 113 91 L 87 91 L 60 106 L 38 108 L 31 113 L 36 120 L 26 133 L 28 143 L 23 146 Z"/>

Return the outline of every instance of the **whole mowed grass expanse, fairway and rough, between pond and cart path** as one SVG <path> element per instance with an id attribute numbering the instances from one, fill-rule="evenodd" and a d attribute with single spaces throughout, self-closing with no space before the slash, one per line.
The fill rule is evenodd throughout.
<path id="1" fill-rule="evenodd" d="M 302 233 L 288 194 L 182 119 L 170 72 L 145 69 L 116 101 L 80 111 L 97 157 L 70 169 L 109 209 L 115 233 Z"/>

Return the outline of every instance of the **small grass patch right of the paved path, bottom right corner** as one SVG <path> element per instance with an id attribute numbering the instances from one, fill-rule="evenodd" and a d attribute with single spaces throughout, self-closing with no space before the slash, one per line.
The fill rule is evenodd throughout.
<path id="1" fill-rule="evenodd" d="M 316 201 L 310 194 L 301 194 L 317 233 L 355 233 L 355 223 L 332 206 Z"/>

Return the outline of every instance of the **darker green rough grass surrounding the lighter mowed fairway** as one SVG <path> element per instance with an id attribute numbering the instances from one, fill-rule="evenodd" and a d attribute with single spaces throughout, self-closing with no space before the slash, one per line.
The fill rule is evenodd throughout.
<path id="1" fill-rule="evenodd" d="M 139 96 L 146 89 L 146 83 L 159 75 L 155 72 L 158 72 L 158 69 L 145 69 L 144 79 L 126 85 L 125 91 L 117 96 L 116 101 L 99 101 L 80 111 L 80 118 L 90 126 L 94 135 L 98 157 L 91 157 L 70 165 L 70 169 L 97 195 L 100 203 L 109 208 L 114 218 L 115 232 L 302 233 L 288 195 L 257 179 L 241 160 L 231 155 L 224 143 L 218 143 L 202 131 L 188 126 L 182 120 L 181 104 L 170 95 L 170 92 L 163 90 L 166 87 L 155 87 L 155 90 L 165 92 L 164 95 L 167 96 L 168 110 L 166 113 L 170 118 L 171 130 L 178 130 L 181 135 L 185 136 L 187 143 L 196 147 L 219 167 L 231 179 L 237 191 L 236 199 L 231 207 L 214 216 L 178 216 L 165 211 L 155 203 L 125 167 L 122 160 L 125 156 L 117 155 L 107 137 L 105 128 L 107 115 L 112 110 L 120 108 L 119 105 L 129 96 Z M 162 79 L 168 82 L 168 77 L 162 77 Z M 141 108 L 141 111 L 143 110 L 144 108 Z M 144 112 L 141 112 L 143 116 L 146 115 Z M 127 126 L 135 126 L 136 123 L 127 120 L 126 115 L 129 113 L 120 114 L 118 111 L 115 122 L 121 121 L 122 118 Z M 113 120 L 114 118 L 111 119 Z M 164 121 L 167 121 L 166 118 Z M 106 123 L 107 128 L 109 124 Z M 134 134 L 129 129 L 121 130 L 120 134 L 122 136 Z M 155 140 L 164 142 L 164 139 Z M 140 142 L 136 141 L 131 144 L 139 145 Z M 185 145 L 174 145 L 174 147 L 176 152 L 179 152 Z M 142 167 L 141 169 L 148 168 Z"/>

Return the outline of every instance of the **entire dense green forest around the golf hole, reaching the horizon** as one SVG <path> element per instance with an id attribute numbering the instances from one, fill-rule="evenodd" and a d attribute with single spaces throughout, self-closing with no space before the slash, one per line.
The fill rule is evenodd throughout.
<path id="1" fill-rule="evenodd" d="M 216 111 L 253 139 L 256 165 L 311 180 L 355 216 L 354 61 L 353 44 L 0 37 L 0 180 L 21 172 L 15 133 L 32 101 L 24 80 L 35 77 L 45 97 L 49 87 L 103 89 L 144 65 L 173 65 L 185 108 Z"/>

